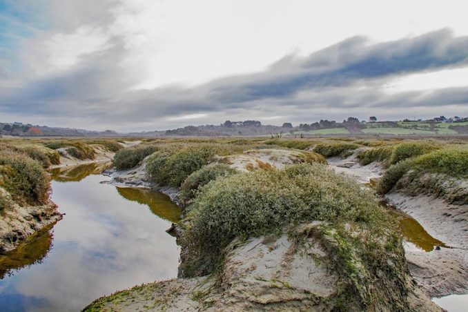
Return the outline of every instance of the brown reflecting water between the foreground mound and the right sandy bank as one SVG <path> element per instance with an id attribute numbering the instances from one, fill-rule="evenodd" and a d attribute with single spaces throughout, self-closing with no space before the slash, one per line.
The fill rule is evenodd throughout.
<path id="1" fill-rule="evenodd" d="M 387 211 L 398 218 L 398 227 L 400 228 L 404 240 L 411 245 L 423 251 L 433 251 L 436 246 L 449 248 L 449 246 L 446 246 L 443 242 L 440 242 L 440 240 L 436 240 L 429 235 L 421 224 L 407 213 L 394 208 L 388 208 Z"/>

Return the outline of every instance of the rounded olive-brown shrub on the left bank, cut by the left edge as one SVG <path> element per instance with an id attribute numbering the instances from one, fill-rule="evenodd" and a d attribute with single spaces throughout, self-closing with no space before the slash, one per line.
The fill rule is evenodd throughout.
<path id="1" fill-rule="evenodd" d="M 38 162 L 19 153 L 0 153 L 0 186 L 18 204 L 46 204 L 49 176 Z"/>

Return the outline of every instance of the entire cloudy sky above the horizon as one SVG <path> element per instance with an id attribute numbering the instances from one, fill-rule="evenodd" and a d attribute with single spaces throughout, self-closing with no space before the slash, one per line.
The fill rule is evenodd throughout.
<path id="1" fill-rule="evenodd" d="M 465 0 L 0 0 L 0 122 L 468 116 Z"/>

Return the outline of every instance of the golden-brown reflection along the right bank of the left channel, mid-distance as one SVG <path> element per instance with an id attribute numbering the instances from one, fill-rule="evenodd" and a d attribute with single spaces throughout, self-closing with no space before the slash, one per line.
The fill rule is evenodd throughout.
<path id="1" fill-rule="evenodd" d="M 144 188 L 117 188 L 117 192 L 132 202 L 147 205 L 152 213 L 164 220 L 173 223 L 180 221 L 182 209 L 171 201 L 167 195 Z"/>

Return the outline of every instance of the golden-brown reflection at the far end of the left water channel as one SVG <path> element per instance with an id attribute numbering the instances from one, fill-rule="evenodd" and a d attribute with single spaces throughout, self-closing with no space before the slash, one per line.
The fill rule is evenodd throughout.
<path id="1" fill-rule="evenodd" d="M 80 182 L 88 175 L 99 175 L 104 170 L 110 168 L 110 162 L 96 162 L 79 166 L 67 166 L 50 170 L 50 175 L 57 182 Z"/>

